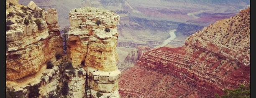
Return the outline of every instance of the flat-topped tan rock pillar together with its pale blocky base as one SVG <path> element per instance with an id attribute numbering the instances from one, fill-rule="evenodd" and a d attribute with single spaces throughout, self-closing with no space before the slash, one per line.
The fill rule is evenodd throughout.
<path id="1" fill-rule="evenodd" d="M 67 55 L 74 67 L 87 72 L 87 97 L 118 98 L 120 71 L 116 63 L 119 15 L 98 8 L 75 8 L 69 12 Z M 103 97 L 102 96 L 102 97 Z"/>

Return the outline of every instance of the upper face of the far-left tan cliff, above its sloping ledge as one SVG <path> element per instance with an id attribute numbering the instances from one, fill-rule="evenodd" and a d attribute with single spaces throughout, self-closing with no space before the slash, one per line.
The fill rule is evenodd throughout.
<path id="1" fill-rule="evenodd" d="M 44 13 L 52 13 L 51 10 L 44 12 L 30 10 L 23 5 L 11 6 L 13 7 L 6 9 L 8 14 L 13 13 L 6 18 L 6 21 L 11 21 L 9 30 L 6 31 L 6 79 L 17 80 L 37 73 L 46 61 L 55 59 L 55 54 L 63 51 L 59 27 L 52 27 L 52 24 L 58 25 L 58 21 L 52 18 L 51 21 L 56 22 L 49 24 L 50 20 L 44 19 L 49 18 Z M 21 9 L 22 7 L 26 10 Z M 36 17 L 34 13 L 42 15 Z M 21 14 L 25 16 L 21 17 Z M 52 14 L 57 17 L 56 13 Z M 28 25 L 24 24 L 26 19 Z M 40 20 L 38 24 L 34 22 L 36 19 Z"/>

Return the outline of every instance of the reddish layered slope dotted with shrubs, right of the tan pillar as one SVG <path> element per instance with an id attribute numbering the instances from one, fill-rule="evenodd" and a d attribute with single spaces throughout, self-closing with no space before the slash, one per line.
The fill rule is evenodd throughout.
<path id="1" fill-rule="evenodd" d="M 158 73 L 148 75 L 152 72 Z M 159 75 L 174 81 L 155 78 Z M 136 78 L 132 83 L 127 82 L 133 77 L 149 80 Z M 150 83 L 151 77 L 159 82 Z M 138 81 L 141 85 L 137 85 Z M 215 93 L 222 95 L 225 88 L 238 88 L 240 84 L 250 84 L 250 7 L 189 36 L 182 47 L 162 47 L 143 53 L 135 67 L 122 74 L 120 94 L 136 97 L 141 93 L 141 97 L 154 97 L 151 95 L 154 90 L 153 95 L 159 95 L 157 97 L 202 98 L 214 97 Z M 139 89 L 134 89 L 135 86 Z"/>

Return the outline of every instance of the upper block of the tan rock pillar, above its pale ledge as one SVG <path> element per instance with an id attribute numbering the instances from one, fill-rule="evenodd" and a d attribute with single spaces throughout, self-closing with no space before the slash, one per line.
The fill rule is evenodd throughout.
<path id="1" fill-rule="evenodd" d="M 116 70 L 116 25 L 119 15 L 103 9 L 78 8 L 69 13 L 69 18 L 67 54 L 72 58 L 73 65 L 79 66 L 85 61 L 88 67 L 104 71 Z M 105 28 L 109 28 L 110 32 Z"/>

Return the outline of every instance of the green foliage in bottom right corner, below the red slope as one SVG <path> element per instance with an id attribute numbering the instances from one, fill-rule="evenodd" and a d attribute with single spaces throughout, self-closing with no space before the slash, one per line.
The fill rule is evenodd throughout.
<path id="1" fill-rule="evenodd" d="M 250 98 L 250 86 L 243 84 L 239 85 L 239 88 L 234 90 L 224 89 L 224 95 L 215 94 L 216 98 Z"/>

